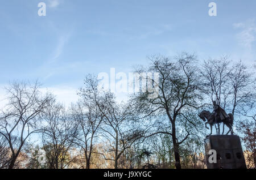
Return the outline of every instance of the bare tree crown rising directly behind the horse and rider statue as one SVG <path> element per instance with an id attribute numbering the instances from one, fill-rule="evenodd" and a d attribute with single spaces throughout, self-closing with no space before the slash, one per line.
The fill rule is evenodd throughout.
<path id="1" fill-rule="evenodd" d="M 212 101 L 216 100 L 218 105 L 229 110 L 233 115 L 255 117 L 251 114 L 256 100 L 253 73 L 249 72 L 241 61 L 232 66 L 230 63 L 226 56 L 204 62 L 201 74 L 207 96 Z M 219 125 L 218 132 L 220 132 Z"/>

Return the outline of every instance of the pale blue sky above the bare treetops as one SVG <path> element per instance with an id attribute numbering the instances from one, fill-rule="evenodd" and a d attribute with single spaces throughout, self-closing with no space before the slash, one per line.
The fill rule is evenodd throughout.
<path id="1" fill-rule="evenodd" d="M 39 2 L 46 16 L 38 16 Z M 210 2 L 217 16 L 208 15 Z M 131 72 L 149 55 L 228 54 L 251 65 L 255 8 L 255 0 L 1 0 L 0 87 L 38 79 L 69 103 L 87 73 Z"/>

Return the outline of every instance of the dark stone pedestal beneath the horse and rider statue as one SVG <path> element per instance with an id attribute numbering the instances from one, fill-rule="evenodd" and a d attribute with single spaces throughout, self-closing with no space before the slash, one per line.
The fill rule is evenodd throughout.
<path id="1" fill-rule="evenodd" d="M 237 135 L 210 135 L 204 139 L 208 169 L 246 169 L 240 138 Z M 209 150 L 217 152 L 217 162 L 209 162 Z"/>

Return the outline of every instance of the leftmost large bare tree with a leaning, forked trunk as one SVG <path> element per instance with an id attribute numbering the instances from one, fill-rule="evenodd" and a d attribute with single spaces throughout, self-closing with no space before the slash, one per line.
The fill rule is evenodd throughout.
<path id="1" fill-rule="evenodd" d="M 37 128 L 39 115 L 51 100 L 50 95 L 39 92 L 39 83 L 14 82 L 6 88 L 9 104 L 2 110 L 0 134 L 5 137 L 11 150 L 9 168 L 14 168 L 15 161 L 27 138 L 40 132 Z"/>

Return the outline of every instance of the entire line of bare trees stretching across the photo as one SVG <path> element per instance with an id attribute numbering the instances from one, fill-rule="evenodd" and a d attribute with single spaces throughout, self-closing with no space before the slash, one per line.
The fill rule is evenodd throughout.
<path id="1" fill-rule="evenodd" d="M 38 82 L 11 83 L 0 112 L 0 169 L 205 168 L 199 115 L 213 119 L 216 109 L 236 126 L 247 168 L 255 168 L 255 67 L 188 53 L 149 60 L 134 69 L 139 91 L 123 101 L 92 74 L 67 107 Z"/>

